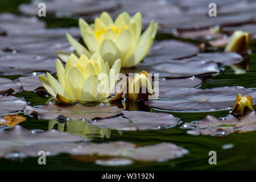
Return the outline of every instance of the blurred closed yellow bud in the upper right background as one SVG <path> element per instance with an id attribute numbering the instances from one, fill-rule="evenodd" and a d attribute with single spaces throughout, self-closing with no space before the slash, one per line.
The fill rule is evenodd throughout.
<path id="1" fill-rule="evenodd" d="M 242 53 L 249 50 L 249 34 L 243 31 L 234 31 L 228 44 L 226 44 L 226 52 Z"/>

